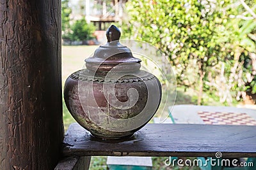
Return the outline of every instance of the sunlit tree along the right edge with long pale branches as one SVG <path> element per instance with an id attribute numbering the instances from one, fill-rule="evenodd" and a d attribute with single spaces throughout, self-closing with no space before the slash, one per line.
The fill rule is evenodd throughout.
<path id="1" fill-rule="evenodd" d="M 245 99 L 246 92 L 256 92 L 256 18 L 253 17 L 255 16 L 255 3 L 256 1 L 254 3 L 243 0 L 231 1 L 222 9 L 223 13 L 228 15 L 228 22 L 224 25 L 227 31 L 222 36 L 225 37 L 223 48 L 228 51 L 223 61 L 225 62 L 223 78 L 224 76 L 226 78 L 223 86 L 226 88 L 217 86 L 218 89 L 222 88 L 230 94 L 233 93 L 237 100 L 241 97 Z"/>

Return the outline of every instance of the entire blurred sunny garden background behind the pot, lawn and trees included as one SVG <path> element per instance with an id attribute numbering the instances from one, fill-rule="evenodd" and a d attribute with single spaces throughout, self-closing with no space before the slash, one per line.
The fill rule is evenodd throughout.
<path id="1" fill-rule="evenodd" d="M 62 0 L 62 82 L 106 43 L 106 29 L 161 50 L 177 79 L 175 104 L 254 108 L 256 0 Z M 159 116 L 159 115 L 156 115 Z M 75 122 L 63 102 L 65 130 Z M 166 158 L 153 158 L 154 169 Z M 91 169 L 106 169 L 93 157 Z M 186 167 L 198 169 L 198 167 Z M 186 169 L 183 168 L 183 169 Z"/>

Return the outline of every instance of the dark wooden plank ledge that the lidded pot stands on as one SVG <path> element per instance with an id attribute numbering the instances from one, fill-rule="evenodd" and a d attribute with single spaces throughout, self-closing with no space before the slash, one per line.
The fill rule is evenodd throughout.
<path id="1" fill-rule="evenodd" d="M 256 126 L 147 124 L 133 138 L 106 141 L 80 125 L 68 128 L 63 154 L 115 156 L 256 157 Z"/>

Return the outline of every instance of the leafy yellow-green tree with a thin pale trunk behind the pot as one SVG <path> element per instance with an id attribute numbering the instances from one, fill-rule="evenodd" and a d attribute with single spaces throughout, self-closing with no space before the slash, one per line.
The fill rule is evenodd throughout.
<path id="1" fill-rule="evenodd" d="M 204 78 L 211 67 L 225 54 L 221 50 L 220 34 L 227 22 L 214 1 L 130 1 L 127 11 L 133 38 L 148 41 L 169 56 L 177 71 L 177 82 L 198 87 L 198 104 L 204 89 Z M 198 73 L 191 81 L 188 73 L 191 60 Z"/>

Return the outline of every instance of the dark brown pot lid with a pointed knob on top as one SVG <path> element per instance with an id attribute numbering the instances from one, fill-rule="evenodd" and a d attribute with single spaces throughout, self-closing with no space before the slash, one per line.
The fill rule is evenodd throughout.
<path id="1" fill-rule="evenodd" d="M 135 71 L 140 69 L 140 59 L 132 56 L 131 50 L 122 44 L 119 39 L 120 30 L 111 25 L 106 31 L 108 43 L 99 46 L 93 57 L 85 60 L 86 68 L 96 71 L 109 71 L 115 67 L 115 71 Z M 118 66 L 120 65 L 120 66 Z"/>

